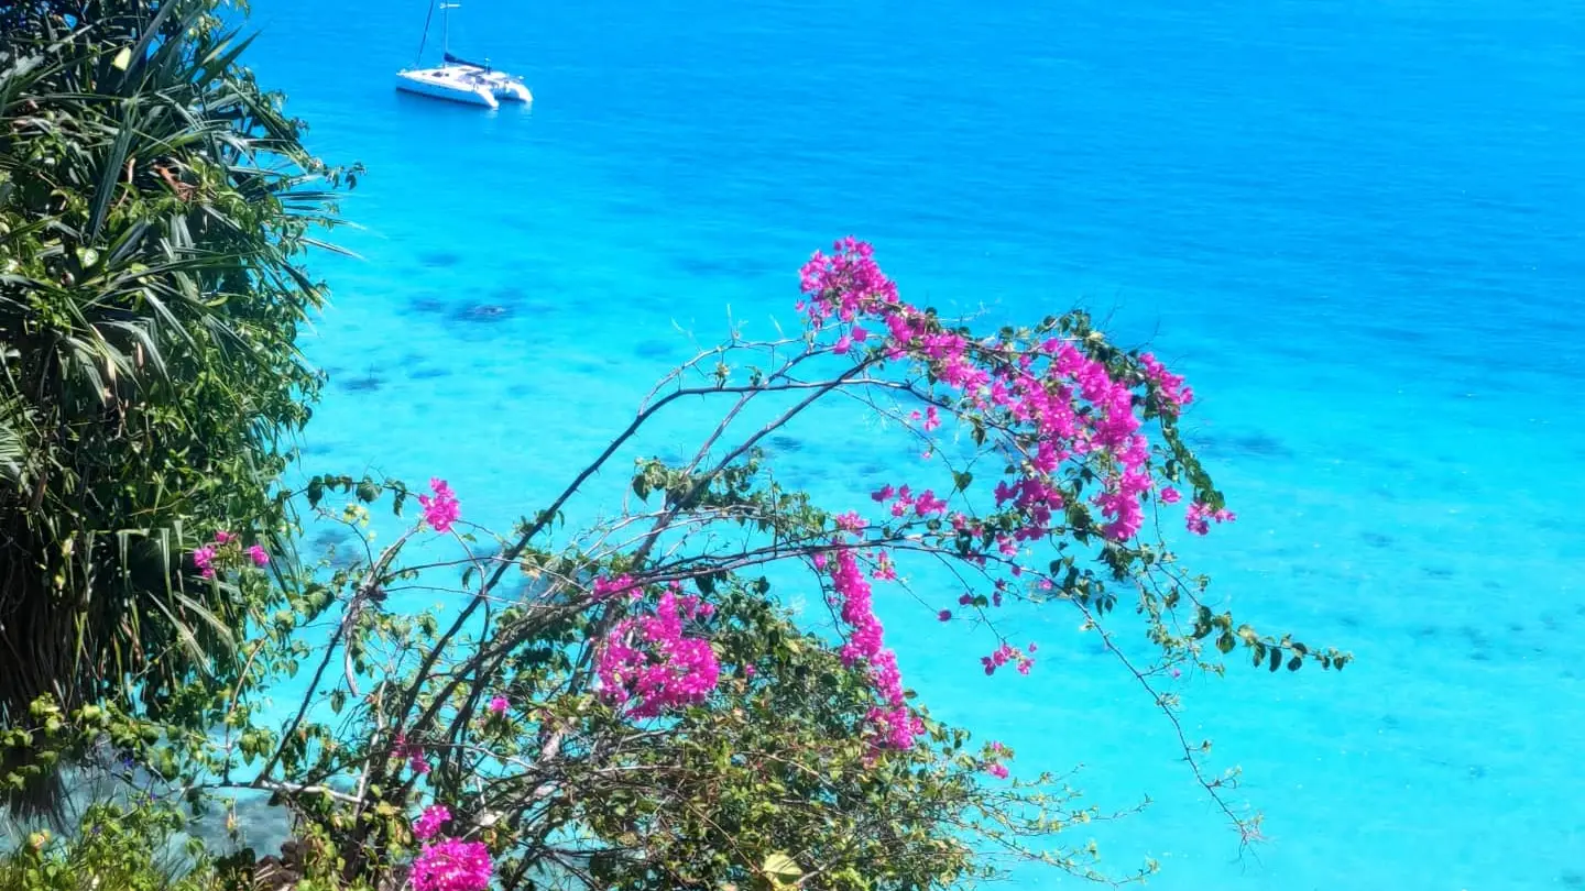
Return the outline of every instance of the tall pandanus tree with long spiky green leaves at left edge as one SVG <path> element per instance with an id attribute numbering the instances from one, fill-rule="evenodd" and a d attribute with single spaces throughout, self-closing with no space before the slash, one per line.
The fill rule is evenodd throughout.
<path id="1" fill-rule="evenodd" d="M 344 178 L 217 13 L 0 6 L 0 726 L 223 682 L 252 604 L 184 585 L 184 536 L 285 547 L 273 485 L 320 385 L 301 258 Z"/>

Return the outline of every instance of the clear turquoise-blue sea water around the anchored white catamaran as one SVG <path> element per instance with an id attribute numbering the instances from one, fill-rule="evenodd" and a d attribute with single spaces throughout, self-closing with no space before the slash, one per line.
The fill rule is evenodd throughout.
<path id="1" fill-rule="evenodd" d="M 309 471 L 445 476 L 504 526 L 686 354 L 674 322 L 769 333 L 846 233 L 916 301 L 1083 303 L 1201 396 L 1243 520 L 1187 556 L 1246 618 L 1360 661 L 1189 690 L 1268 813 L 1243 859 L 1071 617 L 1029 617 L 1046 658 L 991 680 L 983 641 L 943 655 L 883 599 L 924 699 L 1025 767 L 1084 763 L 1103 805 L 1154 796 L 1097 836 L 1114 866 L 1160 858 L 1157 888 L 1585 886 L 1575 5 L 471 0 L 453 49 L 537 97 L 498 113 L 391 89 L 422 19 L 254 16 L 312 146 L 369 166 L 341 236 L 361 260 L 317 263 Z M 834 468 L 873 455 L 831 420 L 799 479 L 857 506 L 875 474 Z"/>

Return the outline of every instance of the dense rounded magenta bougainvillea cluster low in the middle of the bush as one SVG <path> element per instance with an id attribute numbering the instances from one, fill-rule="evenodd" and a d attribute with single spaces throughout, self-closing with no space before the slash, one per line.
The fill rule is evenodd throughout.
<path id="1" fill-rule="evenodd" d="M 639 593 L 628 577 L 594 582 L 604 591 Z M 640 595 L 642 596 L 642 595 Z M 634 718 L 653 718 L 666 710 L 704 702 L 721 677 L 710 642 L 685 634 L 694 618 L 715 610 L 699 598 L 683 596 L 680 585 L 669 585 L 655 612 L 618 621 L 601 642 L 596 658 L 602 694 L 623 706 Z"/>

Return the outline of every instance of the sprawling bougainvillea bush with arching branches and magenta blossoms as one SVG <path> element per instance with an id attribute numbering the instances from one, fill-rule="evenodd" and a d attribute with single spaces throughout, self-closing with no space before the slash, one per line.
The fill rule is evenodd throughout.
<path id="1" fill-rule="evenodd" d="M 312 479 L 307 504 L 360 536 L 300 585 L 269 580 L 290 572 L 257 531 L 204 531 L 184 583 L 277 585 L 227 656 L 243 682 L 195 704 L 201 732 L 113 710 L 63 725 L 195 801 L 269 791 L 327 886 L 945 888 L 1006 858 L 1148 874 L 1102 869 L 1081 826 L 1116 813 L 1057 766 L 932 720 L 877 609 L 961 628 L 938 658 L 987 685 L 1059 685 L 1041 658 L 1073 641 L 1014 641 L 999 618 L 1064 610 L 1173 726 L 1173 679 L 1235 650 L 1341 667 L 1213 610 L 1167 549 L 1236 522 L 1179 436 L 1194 392 L 1079 312 L 973 331 L 915 306 L 854 239 L 816 252 L 800 290 L 797 336 L 701 352 L 507 534 L 474 525 L 441 468 L 414 490 Z M 832 406 L 913 455 L 856 503 L 785 485 L 764 450 Z M 682 458 L 640 458 L 602 520 L 566 523 L 674 415 L 710 420 Z M 407 518 L 388 544 L 361 533 L 374 506 Z M 444 612 L 396 609 L 415 591 Z M 1165 755 L 1254 836 L 1228 775 L 1178 740 Z"/>

